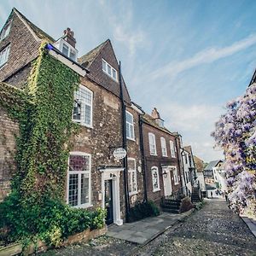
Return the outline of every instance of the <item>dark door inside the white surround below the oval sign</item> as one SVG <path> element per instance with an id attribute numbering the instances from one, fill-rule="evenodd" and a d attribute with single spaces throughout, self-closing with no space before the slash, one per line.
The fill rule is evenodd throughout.
<path id="1" fill-rule="evenodd" d="M 105 180 L 105 209 L 107 210 L 106 224 L 113 224 L 113 183 Z"/>

